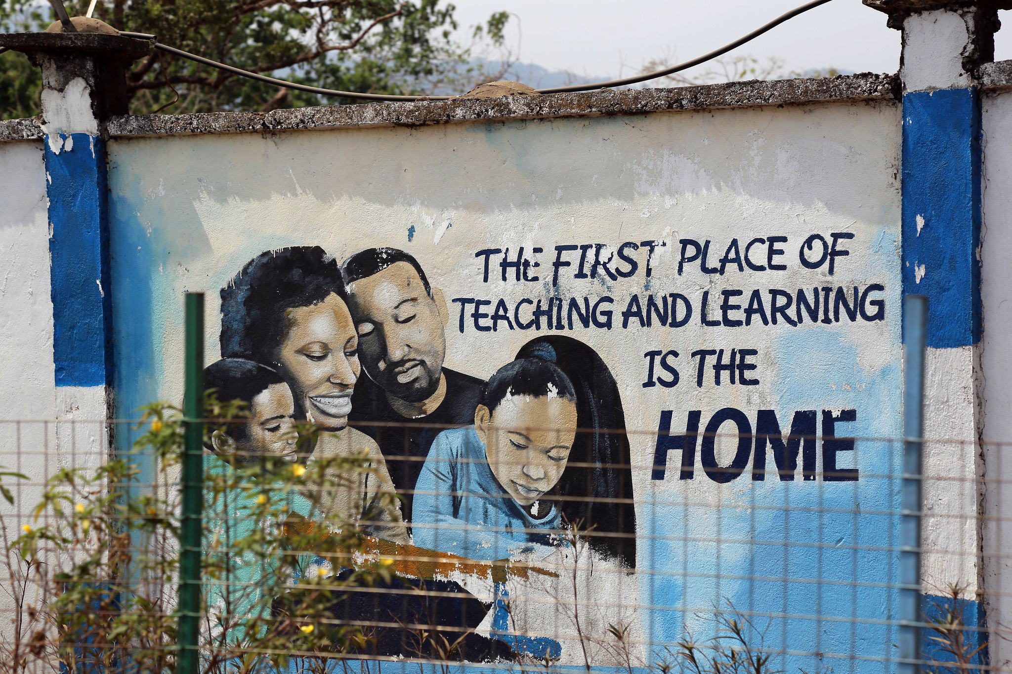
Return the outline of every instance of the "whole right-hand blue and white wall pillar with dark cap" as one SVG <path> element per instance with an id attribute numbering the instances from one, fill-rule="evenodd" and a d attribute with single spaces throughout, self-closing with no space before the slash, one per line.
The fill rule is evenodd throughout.
<path id="1" fill-rule="evenodd" d="M 998 9 L 1012 3 L 864 3 L 887 12 L 889 25 L 903 31 L 903 292 L 929 301 L 922 610 L 938 614 L 957 585 L 965 622 L 983 628 L 982 153 L 975 73 L 994 60 Z M 979 645 L 987 635 L 976 632 L 967 639 Z M 933 644 L 922 640 L 927 657 L 950 659 Z"/>

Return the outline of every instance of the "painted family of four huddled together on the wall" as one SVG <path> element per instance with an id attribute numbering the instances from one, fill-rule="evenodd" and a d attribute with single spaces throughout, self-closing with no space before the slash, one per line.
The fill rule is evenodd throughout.
<path id="1" fill-rule="evenodd" d="M 443 367 L 445 298 L 414 257 L 393 248 L 342 264 L 320 247 L 267 251 L 230 279 L 221 300 L 223 358 L 206 368 L 206 385 L 218 399 L 247 405 L 251 418 L 215 436 L 209 449 L 226 460 L 272 455 L 303 464 L 367 456 L 366 470 L 341 476 L 336 497 L 306 501 L 292 516 L 312 519 L 319 507 L 331 520 L 366 522 L 376 547 L 396 544 L 402 557 L 452 560 L 448 574 L 397 575 L 385 584 L 389 594 L 352 591 L 336 606 L 341 618 L 431 624 L 436 615 L 435 624 L 457 630 L 454 642 L 462 633 L 455 651 L 463 659 L 559 660 L 560 641 L 510 627 L 516 611 L 507 609 L 505 576 L 493 581 L 491 601 L 447 576 L 473 576 L 467 569 L 481 563 L 557 558 L 539 572 L 559 579 L 566 552 L 557 553 L 581 546 L 635 570 L 621 400 L 587 345 L 533 339 L 488 381 Z M 315 446 L 297 447 L 296 421 L 322 431 Z M 209 468 L 222 469 L 214 461 Z M 384 495 L 395 493 L 384 507 Z M 350 571 L 307 560 L 306 573 Z M 440 601 L 412 590 L 458 596 Z M 370 633 L 371 654 L 436 655 L 425 645 L 419 653 L 409 630 Z"/>

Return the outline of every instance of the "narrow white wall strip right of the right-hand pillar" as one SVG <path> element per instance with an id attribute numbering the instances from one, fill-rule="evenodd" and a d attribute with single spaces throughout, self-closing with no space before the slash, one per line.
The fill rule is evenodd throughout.
<path id="1" fill-rule="evenodd" d="M 1012 93 L 984 99 L 981 384 L 988 515 L 984 541 L 993 664 L 1012 662 Z"/>

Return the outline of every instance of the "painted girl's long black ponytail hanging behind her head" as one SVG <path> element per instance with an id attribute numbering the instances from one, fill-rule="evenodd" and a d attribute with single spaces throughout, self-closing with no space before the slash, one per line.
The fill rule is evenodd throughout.
<path id="1" fill-rule="evenodd" d="M 625 414 L 615 378 L 593 349 L 578 340 L 532 340 L 517 359 L 541 359 L 565 373 L 576 392 L 578 430 L 569 465 L 554 493 L 567 521 L 588 531 L 591 548 L 636 568 L 636 511 Z M 576 464 L 576 465 L 573 465 Z"/>

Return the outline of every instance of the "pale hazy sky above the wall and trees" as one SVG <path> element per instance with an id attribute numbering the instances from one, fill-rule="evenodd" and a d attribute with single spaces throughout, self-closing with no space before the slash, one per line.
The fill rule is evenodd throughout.
<path id="1" fill-rule="evenodd" d="M 518 61 L 578 75 L 632 75 L 652 59 L 686 61 L 759 27 L 805 0 L 455 0 L 473 25 L 492 12 L 514 14 L 509 44 Z M 996 58 L 1012 59 L 1012 12 Z M 773 28 L 730 56 L 784 60 L 786 71 L 837 68 L 895 73 L 900 31 L 860 0 L 833 0 Z"/>

